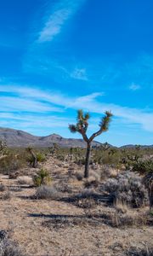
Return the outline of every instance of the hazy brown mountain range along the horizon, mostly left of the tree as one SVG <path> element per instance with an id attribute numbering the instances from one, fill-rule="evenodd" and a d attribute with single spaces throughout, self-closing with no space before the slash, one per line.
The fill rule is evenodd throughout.
<path id="1" fill-rule="evenodd" d="M 51 134 L 46 137 L 33 136 L 26 131 L 14 130 L 9 128 L 0 128 L 0 140 L 5 141 L 8 147 L 26 148 L 28 146 L 38 148 L 48 148 L 57 143 L 60 147 L 82 147 L 86 143 L 82 139 L 64 138 L 58 134 Z M 93 142 L 93 146 L 99 146 L 101 143 Z"/>

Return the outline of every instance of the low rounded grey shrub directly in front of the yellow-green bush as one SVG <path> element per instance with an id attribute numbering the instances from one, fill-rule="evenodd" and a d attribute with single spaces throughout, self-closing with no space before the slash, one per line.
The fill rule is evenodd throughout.
<path id="1" fill-rule="evenodd" d="M 37 188 L 36 194 L 34 195 L 37 199 L 52 199 L 56 200 L 59 198 L 59 192 L 54 186 L 45 186 L 42 185 Z"/>

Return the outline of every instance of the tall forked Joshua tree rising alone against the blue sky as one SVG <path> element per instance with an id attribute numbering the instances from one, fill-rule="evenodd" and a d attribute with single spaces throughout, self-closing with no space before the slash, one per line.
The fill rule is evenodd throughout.
<path id="1" fill-rule="evenodd" d="M 69 125 L 70 131 L 79 132 L 82 135 L 83 140 L 87 143 L 84 177 L 88 177 L 89 175 L 91 143 L 93 142 L 94 138 L 99 136 L 102 132 L 108 131 L 108 128 L 111 122 L 111 116 L 112 116 L 111 112 L 109 111 L 105 112 L 105 116 L 101 119 L 99 123 L 99 131 L 94 132 L 91 137 L 87 136 L 88 119 L 90 118 L 90 115 L 89 113 L 83 113 L 82 109 L 79 109 L 77 111 L 77 124 Z"/>

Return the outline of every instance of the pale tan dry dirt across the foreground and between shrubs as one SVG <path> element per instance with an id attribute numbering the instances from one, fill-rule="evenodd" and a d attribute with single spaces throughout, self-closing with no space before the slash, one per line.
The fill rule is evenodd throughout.
<path id="1" fill-rule="evenodd" d="M 45 164 L 54 177 L 62 180 L 68 172 L 69 164 L 49 159 Z M 26 170 L 27 171 L 27 170 Z M 34 169 L 28 170 L 31 176 Z M 65 179 L 63 179 L 65 180 Z M 66 181 L 65 181 L 66 182 Z M 75 193 L 82 182 L 70 179 Z M 10 199 L 0 199 L 0 230 L 8 230 L 11 239 L 17 241 L 26 255 L 35 256 L 89 256 L 89 255 L 125 255 L 131 246 L 145 247 L 153 245 L 153 229 L 151 226 L 114 228 L 102 221 L 94 224 L 83 221 L 81 224 L 61 226 L 45 225 L 54 218 L 85 218 L 86 212 L 66 201 L 31 199 L 36 188 L 28 184 L 20 184 L 17 179 L 0 176 L 3 183 L 11 191 Z M 0 195 L 6 191 L 0 192 Z M 64 196 L 64 195 L 63 195 Z M 109 212 L 111 207 L 101 203 L 97 212 Z M 136 211 L 136 210 L 134 210 Z"/>

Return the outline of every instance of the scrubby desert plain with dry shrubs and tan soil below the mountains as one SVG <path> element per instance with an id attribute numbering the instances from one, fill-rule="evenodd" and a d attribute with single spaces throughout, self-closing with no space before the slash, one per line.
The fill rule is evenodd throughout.
<path id="1" fill-rule="evenodd" d="M 152 255 L 153 148 L 97 145 L 84 178 L 86 148 L 51 145 L 32 148 L 33 168 L 1 144 L 0 255 Z"/>

